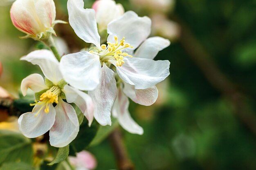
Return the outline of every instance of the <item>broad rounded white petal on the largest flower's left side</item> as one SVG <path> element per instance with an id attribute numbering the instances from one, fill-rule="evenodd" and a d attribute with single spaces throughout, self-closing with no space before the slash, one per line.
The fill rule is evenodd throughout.
<path id="1" fill-rule="evenodd" d="M 99 56 L 88 51 L 64 55 L 61 58 L 60 69 L 65 81 L 80 90 L 90 91 L 99 84 Z"/>

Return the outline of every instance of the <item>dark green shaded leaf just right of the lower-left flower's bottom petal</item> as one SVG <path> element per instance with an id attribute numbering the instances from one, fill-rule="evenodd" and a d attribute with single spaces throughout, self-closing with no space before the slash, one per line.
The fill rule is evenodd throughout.
<path id="1" fill-rule="evenodd" d="M 80 126 L 76 139 L 74 139 L 74 141 L 72 141 L 70 144 L 74 152 L 80 152 L 84 150 L 94 139 L 98 129 L 99 124 L 97 121 L 94 120 L 91 127 L 89 127 L 87 119 L 83 119 L 83 123 Z"/>

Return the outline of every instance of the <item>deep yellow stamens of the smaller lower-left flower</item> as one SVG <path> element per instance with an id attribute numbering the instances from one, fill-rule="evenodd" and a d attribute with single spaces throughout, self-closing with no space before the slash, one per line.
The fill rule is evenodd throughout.
<path id="1" fill-rule="evenodd" d="M 38 113 L 45 107 L 45 113 L 49 113 L 49 105 L 53 104 L 54 102 L 58 104 L 58 96 L 61 94 L 61 88 L 58 86 L 52 86 L 49 90 L 47 90 L 45 93 L 40 95 L 40 103 L 35 101 L 36 103 L 30 104 L 30 106 L 35 106 L 36 104 L 42 105 L 41 108 L 36 113 L 35 117 L 38 115 Z"/>

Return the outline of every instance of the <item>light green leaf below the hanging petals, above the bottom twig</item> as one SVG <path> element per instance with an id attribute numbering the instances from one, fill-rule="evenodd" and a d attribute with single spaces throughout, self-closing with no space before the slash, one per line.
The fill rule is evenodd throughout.
<path id="1" fill-rule="evenodd" d="M 112 120 L 112 126 L 100 126 L 99 130 L 90 143 L 90 146 L 95 146 L 100 144 L 106 137 L 110 135 L 110 133 L 118 126 L 118 121 L 117 119 Z"/>

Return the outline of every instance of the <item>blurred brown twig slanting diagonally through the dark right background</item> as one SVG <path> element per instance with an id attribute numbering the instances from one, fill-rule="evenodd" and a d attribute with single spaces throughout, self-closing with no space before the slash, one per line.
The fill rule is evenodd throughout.
<path id="1" fill-rule="evenodd" d="M 227 96 L 236 109 L 236 115 L 256 135 L 256 116 L 245 102 L 246 96 L 238 91 L 236 86 L 220 72 L 211 56 L 196 40 L 193 33 L 180 19 L 174 18 L 181 26 L 180 42 L 195 64 L 214 88 Z"/>

